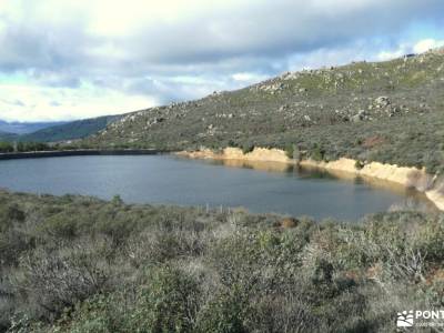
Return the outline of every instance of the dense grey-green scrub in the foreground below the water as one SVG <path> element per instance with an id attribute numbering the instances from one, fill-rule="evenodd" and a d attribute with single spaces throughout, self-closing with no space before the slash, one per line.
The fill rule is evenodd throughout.
<path id="1" fill-rule="evenodd" d="M 398 311 L 444 306 L 443 260 L 443 214 L 0 192 L 0 332 L 392 332 Z"/>

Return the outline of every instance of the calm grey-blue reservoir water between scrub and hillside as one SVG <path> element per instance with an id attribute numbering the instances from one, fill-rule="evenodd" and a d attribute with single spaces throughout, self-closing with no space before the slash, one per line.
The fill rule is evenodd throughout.
<path id="1" fill-rule="evenodd" d="M 424 195 L 279 163 L 173 155 L 67 157 L 0 161 L 0 188 L 85 194 L 128 203 L 244 206 L 251 212 L 355 220 L 394 206 L 432 208 Z"/>

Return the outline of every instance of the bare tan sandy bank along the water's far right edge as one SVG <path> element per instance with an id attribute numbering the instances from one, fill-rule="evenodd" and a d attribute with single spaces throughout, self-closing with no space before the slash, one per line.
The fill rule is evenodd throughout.
<path id="1" fill-rule="evenodd" d="M 371 162 L 364 168 L 357 170 L 355 160 L 340 159 L 333 162 L 316 162 L 304 160 L 296 162 L 286 157 L 283 150 L 255 148 L 252 152 L 244 154 L 239 148 L 225 148 L 222 152 L 216 153 L 212 150 L 200 150 L 192 152 L 179 152 L 179 155 L 192 159 L 213 159 L 224 161 L 243 161 L 243 162 L 278 162 L 299 164 L 307 168 L 319 168 L 327 170 L 337 176 L 361 175 L 369 179 L 377 179 L 383 181 L 401 184 L 405 188 L 414 188 L 425 195 L 442 211 L 444 211 L 444 182 L 438 181 L 435 176 L 427 174 L 424 170 L 416 168 L 405 168 L 392 164 L 383 164 Z"/>

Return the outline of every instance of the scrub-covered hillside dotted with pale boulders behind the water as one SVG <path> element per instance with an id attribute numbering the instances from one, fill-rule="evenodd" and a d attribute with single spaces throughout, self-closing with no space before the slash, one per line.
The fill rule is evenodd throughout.
<path id="1" fill-rule="evenodd" d="M 232 92 L 128 113 L 85 140 L 165 150 L 254 145 L 333 160 L 444 165 L 444 49 L 287 72 Z"/>

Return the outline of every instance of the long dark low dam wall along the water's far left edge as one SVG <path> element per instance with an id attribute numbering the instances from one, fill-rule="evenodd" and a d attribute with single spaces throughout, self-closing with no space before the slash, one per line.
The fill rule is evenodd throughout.
<path id="1" fill-rule="evenodd" d="M 155 155 L 168 153 L 155 149 L 78 149 L 60 151 L 31 151 L 0 153 L 0 160 L 18 159 L 41 159 L 41 158 L 62 158 L 62 157 L 88 157 L 88 155 Z"/>

